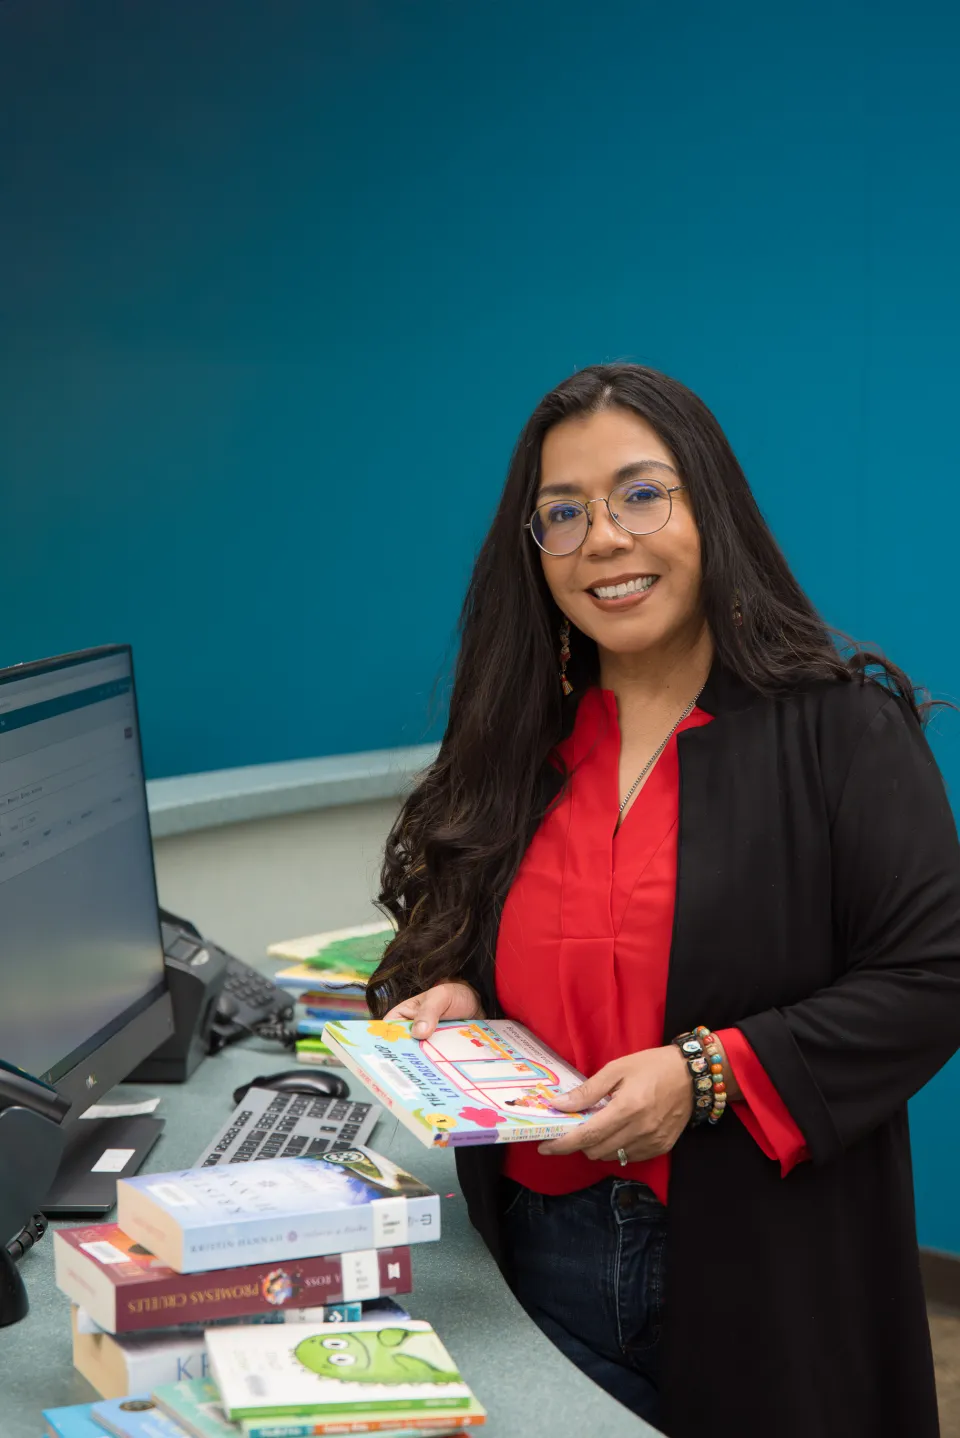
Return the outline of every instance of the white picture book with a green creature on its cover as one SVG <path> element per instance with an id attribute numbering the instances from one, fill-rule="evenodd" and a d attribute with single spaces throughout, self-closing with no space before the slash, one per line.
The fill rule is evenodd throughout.
<path id="1" fill-rule="evenodd" d="M 207 1334 L 210 1376 L 236 1421 L 389 1416 L 453 1418 L 473 1398 L 428 1323 L 415 1319 L 329 1327 L 220 1329 Z"/>

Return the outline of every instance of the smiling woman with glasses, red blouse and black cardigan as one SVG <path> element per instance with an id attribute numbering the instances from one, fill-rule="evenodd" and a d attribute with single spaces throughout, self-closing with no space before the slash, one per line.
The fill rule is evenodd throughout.
<path id="1" fill-rule="evenodd" d="M 960 856 L 926 707 L 838 654 L 688 390 L 605 365 L 537 406 L 371 992 L 418 1037 L 517 1018 L 589 1076 L 568 1107 L 606 1099 L 460 1178 L 527 1311 L 671 1438 L 938 1432 L 905 1104 L 960 1043 Z"/>

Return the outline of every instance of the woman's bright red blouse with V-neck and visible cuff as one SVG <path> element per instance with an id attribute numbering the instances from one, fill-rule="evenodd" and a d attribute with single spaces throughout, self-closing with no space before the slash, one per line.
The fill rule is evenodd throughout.
<path id="1" fill-rule="evenodd" d="M 700 709 L 678 733 L 710 723 Z M 573 771 L 543 820 L 503 907 L 496 984 L 504 1014 L 526 1024 L 581 1073 L 664 1041 L 667 969 L 677 890 L 680 761 L 670 741 L 614 833 L 619 805 L 619 723 L 606 689 L 583 695 L 559 748 Z M 710 1015 L 697 1015 L 710 1022 Z M 743 1102 L 731 1104 L 783 1175 L 803 1135 L 739 1028 L 720 1031 Z M 730 1123 L 730 1117 L 726 1117 Z M 670 1155 L 644 1163 L 550 1158 L 512 1143 L 504 1173 L 540 1194 L 569 1194 L 606 1173 L 648 1183 L 667 1201 Z"/>

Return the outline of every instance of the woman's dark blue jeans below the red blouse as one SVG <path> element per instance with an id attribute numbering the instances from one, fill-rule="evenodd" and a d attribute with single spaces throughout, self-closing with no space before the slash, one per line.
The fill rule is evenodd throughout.
<path id="1" fill-rule="evenodd" d="M 556 1198 L 503 1179 L 513 1291 L 612 1398 L 657 1425 L 667 1209 L 645 1183 L 606 1178 Z"/>

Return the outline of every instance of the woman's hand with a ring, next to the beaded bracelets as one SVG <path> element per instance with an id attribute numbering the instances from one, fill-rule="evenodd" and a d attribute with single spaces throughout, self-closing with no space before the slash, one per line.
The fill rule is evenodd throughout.
<path id="1" fill-rule="evenodd" d="M 693 1113 L 690 1068 L 675 1044 L 615 1058 L 552 1103 L 576 1112 L 591 1109 L 608 1094 L 609 1103 L 599 1113 L 562 1139 L 542 1143 L 537 1152 L 582 1152 L 588 1159 L 612 1162 L 622 1149 L 631 1163 L 638 1163 L 670 1153 Z"/>

